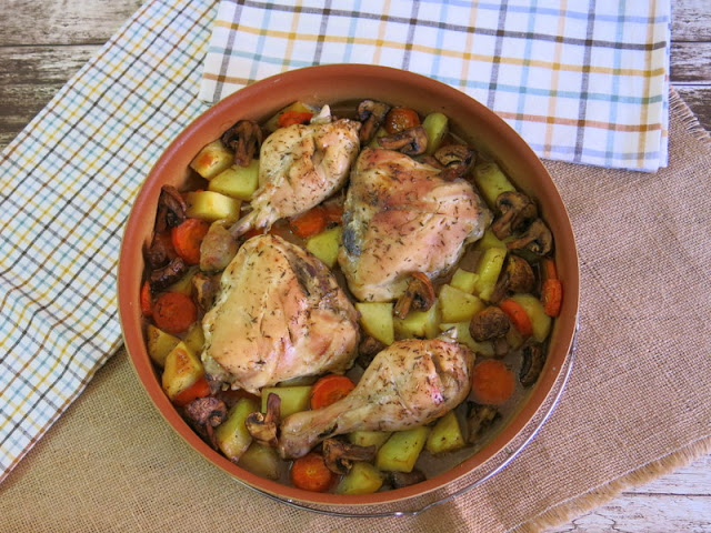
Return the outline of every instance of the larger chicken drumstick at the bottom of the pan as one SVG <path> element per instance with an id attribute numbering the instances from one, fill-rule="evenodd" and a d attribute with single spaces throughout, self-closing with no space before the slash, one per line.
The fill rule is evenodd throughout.
<path id="1" fill-rule="evenodd" d="M 473 360 L 473 353 L 455 342 L 398 341 L 373 359 L 346 398 L 284 419 L 279 453 L 284 459 L 300 457 L 329 436 L 427 424 L 467 398 Z"/>

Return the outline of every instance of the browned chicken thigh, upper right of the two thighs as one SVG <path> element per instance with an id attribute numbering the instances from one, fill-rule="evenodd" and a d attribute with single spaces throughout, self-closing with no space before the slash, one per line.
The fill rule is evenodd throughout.
<path id="1" fill-rule="evenodd" d="M 431 279 L 461 258 L 491 222 L 472 185 L 399 152 L 363 149 L 351 171 L 339 264 L 362 301 L 402 295 L 409 274 Z"/>

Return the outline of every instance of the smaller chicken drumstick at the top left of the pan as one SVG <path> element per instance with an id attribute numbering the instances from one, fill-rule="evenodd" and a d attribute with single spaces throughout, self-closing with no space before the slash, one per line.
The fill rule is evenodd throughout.
<path id="1" fill-rule="evenodd" d="M 252 211 L 232 227 L 232 237 L 303 213 L 343 187 L 360 149 L 359 130 L 360 122 L 339 119 L 269 135 L 260 150 Z"/>

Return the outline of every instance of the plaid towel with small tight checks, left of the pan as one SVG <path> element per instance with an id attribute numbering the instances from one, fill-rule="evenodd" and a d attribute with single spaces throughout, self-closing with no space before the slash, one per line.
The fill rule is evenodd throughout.
<path id="1" fill-rule="evenodd" d="M 147 2 L 0 154 L 0 480 L 121 344 L 123 222 L 207 108 L 216 9 Z"/>

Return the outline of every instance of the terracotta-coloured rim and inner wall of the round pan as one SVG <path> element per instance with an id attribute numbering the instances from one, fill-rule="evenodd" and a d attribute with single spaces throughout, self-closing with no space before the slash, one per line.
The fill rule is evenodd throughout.
<path id="1" fill-rule="evenodd" d="M 167 183 L 180 188 L 188 177 L 188 164 L 204 144 L 219 138 L 239 119 L 264 120 L 294 100 L 322 104 L 364 98 L 411 107 L 421 114 L 441 111 L 450 118 L 453 131 L 493 158 L 520 190 L 535 198 L 553 232 L 559 276 L 565 291 L 562 313 L 552 330 L 548 360 L 539 382 L 498 436 L 459 466 L 425 482 L 375 494 L 343 496 L 311 493 L 251 474 L 217 453 L 190 429 L 161 390 L 147 353 L 139 291 L 143 248 L 151 239 L 160 188 Z M 563 369 L 570 365 L 578 318 L 579 268 L 573 232 L 555 184 L 525 142 L 492 111 L 459 90 L 410 72 L 359 64 L 322 66 L 278 74 L 238 91 L 209 109 L 172 142 L 146 180 L 126 225 L 118 288 L 126 346 L 138 376 L 168 423 L 198 453 L 237 480 L 282 501 L 328 509 L 349 505 L 378 510 L 384 505 L 392 510 L 405 504 L 408 499 L 433 491 L 445 497 L 452 493 L 452 487 L 461 486 L 462 479 L 501 455 L 522 432 L 531 433 L 532 421 L 540 418 L 542 405 L 550 403 Z M 501 460 L 497 461 L 501 463 Z M 487 467 L 492 471 L 492 467 Z M 435 500 L 441 497 L 435 496 Z"/>

